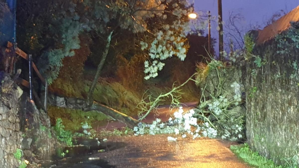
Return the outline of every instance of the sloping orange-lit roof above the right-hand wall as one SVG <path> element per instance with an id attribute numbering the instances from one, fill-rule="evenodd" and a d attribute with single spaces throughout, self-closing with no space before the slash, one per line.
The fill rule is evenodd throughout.
<path id="1" fill-rule="evenodd" d="M 259 30 L 259 35 L 257 36 L 256 41 L 257 45 L 263 44 L 277 34 L 287 30 L 291 26 L 290 22 L 292 21 L 299 21 L 299 6 L 285 16 L 279 18 L 277 21 L 273 22 L 271 25 L 266 26 L 263 30 Z"/>

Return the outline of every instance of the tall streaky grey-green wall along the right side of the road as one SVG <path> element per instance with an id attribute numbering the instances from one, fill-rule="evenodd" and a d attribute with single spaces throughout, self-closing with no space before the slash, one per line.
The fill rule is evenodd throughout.
<path id="1" fill-rule="evenodd" d="M 299 152 L 299 77 L 294 61 L 298 49 L 277 54 L 271 40 L 255 48 L 261 66 L 252 57 L 246 67 L 247 138 L 252 149 L 284 164 Z M 296 152 L 297 151 L 297 152 Z"/>

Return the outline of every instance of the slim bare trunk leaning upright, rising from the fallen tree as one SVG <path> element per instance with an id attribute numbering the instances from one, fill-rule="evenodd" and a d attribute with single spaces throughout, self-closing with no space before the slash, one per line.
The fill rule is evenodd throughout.
<path id="1" fill-rule="evenodd" d="M 89 91 L 88 91 L 87 100 L 88 100 L 88 105 L 89 106 L 91 106 L 92 103 L 93 103 L 93 92 L 94 92 L 94 88 L 95 88 L 96 84 L 98 83 L 98 80 L 99 80 L 99 77 L 100 77 L 100 73 L 102 71 L 103 65 L 104 65 L 106 57 L 108 55 L 108 51 L 109 51 L 110 43 L 111 43 L 112 33 L 113 33 L 113 30 L 109 33 L 109 35 L 107 37 L 107 44 L 106 44 L 105 51 L 103 52 L 100 64 L 97 66 L 97 72 L 96 72 L 96 74 L 94 76 L 94 80 L 92 81 L 92 84 L 91 84 L 91 86 L 89 88 Z"/>

